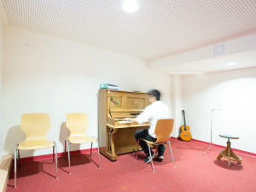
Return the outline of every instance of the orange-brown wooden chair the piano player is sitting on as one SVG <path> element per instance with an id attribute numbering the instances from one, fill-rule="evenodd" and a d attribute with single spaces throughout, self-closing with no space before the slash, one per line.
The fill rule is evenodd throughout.
<path id="1" fill-rule="evenodd" d="M 140 142 L 140 140 L 143 140 L 144 142 L 146 142 L 148 144 L 150 159 L 152 158 L 150 145 L 156 146 L 156 149 L 155 149 L 155 154 L 156 154 L 157 148 L 160 144 L 169 143 L 169 148 L 170 148 L 170 151 L 172 154 L 172 148 L 171 148 L 171 143 L 170 143 L 169 138 L 172 133 L 173 123 L 174 123 L 174 119 L 159 119 L 155 125 L 155 130 L 154 130 L 154 134 L 157 137 L 156 142 L 154 143 L 154 142 L 150 142 L 146 139 L 140 138 L 137 142 L 137 152 L 138 152 L 139 142 Z M 173 166 L 175 167 L 173 156 L 172 156 L 172 163 L 173 163 Z M 151 160 L 151 165 L 152 165 L 152 171 L 154 172 L 153 160 Z"/>

